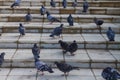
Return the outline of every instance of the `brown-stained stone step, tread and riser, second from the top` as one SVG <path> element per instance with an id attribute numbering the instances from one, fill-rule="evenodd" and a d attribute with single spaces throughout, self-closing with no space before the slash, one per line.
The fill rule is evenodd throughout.
<path id="1" fill-rule="evenodd" d="M 46 9 L 51 14 L 80 14 L 82 13 L 83 8 L 82 7 L 68 7 L 68 8 L 62 8 L 62 7 L 46 7 Z M 19 8 L 12 9 L 9 6 L 0 6 L 0 12 L 1 14 L 26 14 L 28 11 L 31 12 L 31 14 L 40 14 L 40 7 L 25 7 L 21 6 Z M 120 8 L 109 8 L 109 7 L 90 7 L 88 9 L 88 14 L 105 14 L 105 15 L 119 15 L 120 14 Z"/>

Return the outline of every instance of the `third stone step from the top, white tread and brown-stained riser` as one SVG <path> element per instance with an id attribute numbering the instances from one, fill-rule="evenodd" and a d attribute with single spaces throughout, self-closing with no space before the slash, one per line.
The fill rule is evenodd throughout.
<path id="1" fill-rule="evenodd" d="M 1 22 L 24 22 L 26 14 L 0 14 Z M 49 22 L 45 16 L 40 14 L 32 14 L 32 22 Z M 68 14 L 52 14 L 52 16 L 61 20 L 61 22 L 67 22 Z M 99 18 L 103 19 L 105 23 L 120 23 L 120 16 L 111 16 L 111 15 L 84 15 L 84 14 L 74 14 L 74 22 L 76 23 L 91 23 L 93 19 Z"/>

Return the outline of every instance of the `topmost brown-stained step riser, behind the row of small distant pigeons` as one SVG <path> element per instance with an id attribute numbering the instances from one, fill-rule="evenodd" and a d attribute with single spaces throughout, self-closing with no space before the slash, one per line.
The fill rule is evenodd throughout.
<path id="1" fill-rule="evenodd" d="M 1 6 L 9 6 L 13 3 L 13 1 L 0 1 Z M 78 6 L 81 7 L 83 2 L 78 1 Z M 36 2 L 31 2 L 31 1 L 22 1 L 21 6 L 50 6 L 50 2 L 45 2 L 45 1 L 36 1 Z M 60 1 L 56 2 L 56 6 L 61 6 L 62 3 Z M 71 7 L 72 6 L 72 1 L 67 3 L 67 6 Z M 91 7 L 120 7 L 120 2 L 89 2 L 89 6 Z"/>

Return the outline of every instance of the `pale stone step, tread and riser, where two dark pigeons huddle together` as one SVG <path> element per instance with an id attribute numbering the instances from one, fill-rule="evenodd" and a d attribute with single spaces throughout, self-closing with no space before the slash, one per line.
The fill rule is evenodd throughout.
<path id="1" fill-rule="evenodd" d="M 34 59 L 31 49 L 0 49 L 5 52 L 5 61 L 1 67 L 32 68 Z M 56 67 L 55 61 L 65 61 L 80 68 L 120 68 L 120 50 L 78 49 L 75 56 L 63 55 L 62 49 L 41 49 L 40 60 Z"/>

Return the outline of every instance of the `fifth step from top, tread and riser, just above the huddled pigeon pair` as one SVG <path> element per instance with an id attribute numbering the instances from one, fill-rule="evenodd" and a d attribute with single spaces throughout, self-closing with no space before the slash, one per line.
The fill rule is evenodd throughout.
<path id="1" fill-rule="evenodd" d="M 58 49 L 59 40 L 66 42 L 76 40 L 79 49 L 120 49 L 119 34 L 116 34 L 114 42 L 109 42 L 105 34 L 62 34 L 61 38 L 55 39 L 49 35 L 50 33 L 26 33 L 20 37 L 19 33 L 2 33 L 0 48 L 30 49 L 34 43 L 38 43 L 43 49 Z"/>

